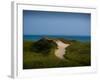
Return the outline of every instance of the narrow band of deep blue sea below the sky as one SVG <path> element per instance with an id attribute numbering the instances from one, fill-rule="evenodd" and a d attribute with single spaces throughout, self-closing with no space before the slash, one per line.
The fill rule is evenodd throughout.
<path id="1" fill-rule="evenodd" d="M 43 37 L 63 38 L 66 40 L 77 40 L 77 41 L 82 41 L 82 42 L 89 42 L 91 40 L 90 36 L 66 36 L 66 35 L 24 35 L 23 40 L 25 40 L 25 41 L 37 41 Z"/>

